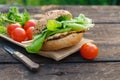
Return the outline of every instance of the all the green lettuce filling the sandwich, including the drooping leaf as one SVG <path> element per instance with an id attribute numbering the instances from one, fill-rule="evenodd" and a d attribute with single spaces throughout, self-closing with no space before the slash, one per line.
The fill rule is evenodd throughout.
<path id="1" fill-rule="evenodd" d="M 94 24 L 92 24 L 92 20 L 85 17 L 83 14 L 80 14 L 74 19 L 67 18 L 62 20 L 62 18 L 60 18 L 60 20 L 48 20 L 46 24 L 47 28 L 44 29 L 36 38 L 34 38 L 33 42 L 26 47 L 26 50 L 29 53 L 37 53 L 42 48 L 44 40 L 49 36 L 68 31 L 86 30 L 93 26 Z"/>

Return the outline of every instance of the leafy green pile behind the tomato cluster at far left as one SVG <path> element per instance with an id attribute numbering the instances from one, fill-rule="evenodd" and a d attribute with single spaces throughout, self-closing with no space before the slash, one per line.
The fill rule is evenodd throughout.
<path id="1" fill-rule="evenodd" d="M 30 19 L 30 14 L 24 10 L 19 12 L 18 7 L 10 7 L 7 13 L 0 12 L 0 34 L 6 34 L 6 27 L 11 23 L 20 23 L 22 26 Z"/>

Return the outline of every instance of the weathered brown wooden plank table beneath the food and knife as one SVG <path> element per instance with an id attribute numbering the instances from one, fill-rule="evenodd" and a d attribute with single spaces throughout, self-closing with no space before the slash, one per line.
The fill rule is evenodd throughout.
<path id="1" fill-rule="evenodd" d="M 6 12 L 9 6 L 1 6 Z M 99 55 L 93 61 L 81 58 L 79 51 L 61 61 L 28 54 L 25 49 L 0 38 L 0 80 L 119 80 L 120 79 L 120 7 L 119 6 L 41 6 L 27 8 L 31 15 L 52 9 L 65 9 L 73 16 L 80 13 L 93 19 L 95 27 L 84 34 L 99 47 Z M 34 18 L 37 18 L 34 16 Z M 4 49 L 9 45 L 41 65 L 38 72 L 29 71 Z"/>

